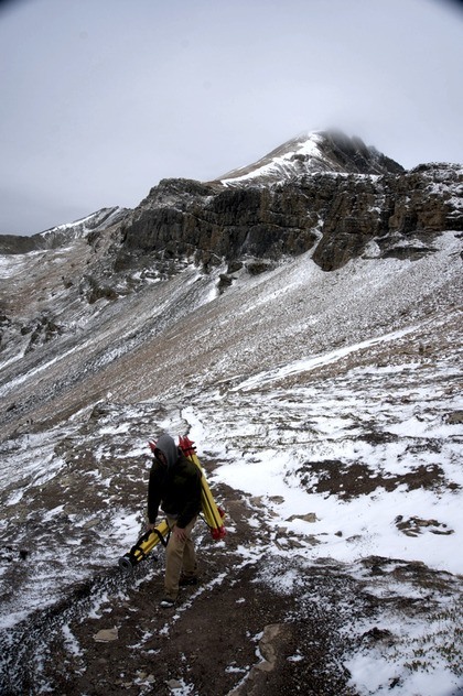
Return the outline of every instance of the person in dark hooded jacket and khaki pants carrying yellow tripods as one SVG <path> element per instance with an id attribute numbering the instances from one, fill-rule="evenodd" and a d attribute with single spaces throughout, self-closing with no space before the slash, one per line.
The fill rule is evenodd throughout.
<path id="1" fill-rule="evenodd" d="M 165 550 L 165 596 L 162 607 L 173 607 L 179 586 L 197 583 L 192 530 L 201 512 L 201 471 L 164 433 L 155 443 L 148 485 L 148 529 L 155 526 L 159 508 L 170 529 Z"/>

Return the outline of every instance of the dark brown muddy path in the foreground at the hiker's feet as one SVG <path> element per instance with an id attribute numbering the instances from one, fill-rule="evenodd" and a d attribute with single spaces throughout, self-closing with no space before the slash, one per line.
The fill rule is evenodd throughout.
<path id="1" fill-rule="evenodd" d="M 262 573 L 283 575 L 290 564 L 271 545 L 252 557 L 257 537 L 268 537 L 265 518 L 251 530 L 249 501 L 226 492 L 230 532 L 215 543 L 198 523 L 201 581 L 182 589 L 174 609 L 159 606 L 162 550 L 132 573 L 95 576 L 10 633 L 2 694 L 354 694 L 340 634 L 345 594 L 355 611 L 364 603 L 353 581 L 319 564 L 298 595 L 276 591 Z"/>

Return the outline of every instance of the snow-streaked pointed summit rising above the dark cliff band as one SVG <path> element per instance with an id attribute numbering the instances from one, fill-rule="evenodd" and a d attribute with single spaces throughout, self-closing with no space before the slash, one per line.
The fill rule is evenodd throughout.
<path id="1" fill-rule="evenodd" d="M 226 186 L 244 182 L 270 184 L 315 172 L 398 174 L 403 167 L 359 138 L 341 131 L 315 131 L 288 140 L 254 164 L 233 170 L 217 181 Z"/>

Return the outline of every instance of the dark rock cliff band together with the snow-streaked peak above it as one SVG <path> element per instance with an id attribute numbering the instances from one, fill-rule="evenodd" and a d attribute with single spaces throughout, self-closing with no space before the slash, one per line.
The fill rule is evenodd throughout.
<path id="1" fill-rule="evenodd" d="M 116 268 L 147 253 L 193 255 L 207 267 L 314 248 L 314 261 L 331 271 L 370 242 L 377 255 L 414 258 L 432 251 L 435 233 L 463 229 L 461 166 L 405 172 L 358 139 L 315 140 L 305 150 L 290 141 L 219 181 L 161 181 L 126 219 Z"/>

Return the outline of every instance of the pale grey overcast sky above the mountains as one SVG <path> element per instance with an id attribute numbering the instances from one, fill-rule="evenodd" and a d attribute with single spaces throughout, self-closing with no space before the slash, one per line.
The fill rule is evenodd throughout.
<path id="1" fill-rule="evenodd" d="M 0 3 L 0 233 L 161 178 L 207 181 L 336 127 L 403 166 L 463 163 L 451 0 Z"/>

